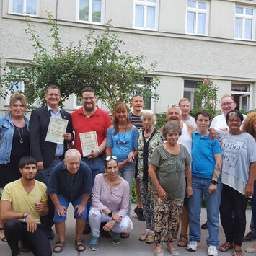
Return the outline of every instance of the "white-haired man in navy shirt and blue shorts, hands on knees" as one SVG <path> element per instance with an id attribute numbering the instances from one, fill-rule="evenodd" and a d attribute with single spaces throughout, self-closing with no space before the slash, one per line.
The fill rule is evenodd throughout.
<path id="1" fill-rule="evenodd" d="M 92 172 L 88 165 L 81 162 L 76 149 L 69 149 L 65 159 L 53 168 L 47 189 L 55 206 L 55 229 L 58 236 L 53 252 L 61 252 L 65 242 L 66 213 L 71 202 L 76 218 L 75 245 L 78 252 L 85 250 L 81 235 L 87 219 L 87 200 L 92 193 Z"/>

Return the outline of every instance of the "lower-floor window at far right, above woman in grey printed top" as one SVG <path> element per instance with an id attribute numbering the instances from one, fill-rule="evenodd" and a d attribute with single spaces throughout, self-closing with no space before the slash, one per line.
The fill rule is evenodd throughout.
<path id="1" fill-rule="evenodd" d="M 252 109 L 252 89 L 250 84 L 232 83 L 231 95 L 237 103 L 237 110 L 249 111 Z"/>

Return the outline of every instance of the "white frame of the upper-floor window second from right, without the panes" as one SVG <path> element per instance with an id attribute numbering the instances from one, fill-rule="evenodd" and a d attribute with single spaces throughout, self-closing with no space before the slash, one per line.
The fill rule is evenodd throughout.
<path id="1" fill-rule="evenodd" d="M 202 0 L 202 1 L 191 0 L 191 1 L 195 1 L 195 8 L 188 7 L 187 4 L 186 4 L 185 34 L 187 34 L 187 35 L 207 36 L 208 35 L 208 27 L 209 27 L 210 4 L 209 4 L 208 1 L 204 1 L 204 0 Z M 198 9 L 198 2 L 206 3 L 206 10 Z M 195 27 L 194 27 L 195 32 L 193 32 L 193 33 L 187 32 L 187 12 L 195 12 Z M 206 14 L 205 34 L 200 34 L 200 33 L 197 32 L 197 30 L 198 30 L 198 13 Z"/>

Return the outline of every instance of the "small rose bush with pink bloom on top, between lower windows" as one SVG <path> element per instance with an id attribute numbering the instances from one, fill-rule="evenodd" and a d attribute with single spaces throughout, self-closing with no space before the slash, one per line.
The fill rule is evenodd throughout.
<path id="1" fill-rule="evenodd" d="M 218 102 L 217 92 L 219 87 L 213 84 L 211 78 L 206 78 L 198 84 L 195 89 L 195 107 L 196 110 L 207 110 L 212 117 L 216 115 L 216 105 Z"/>

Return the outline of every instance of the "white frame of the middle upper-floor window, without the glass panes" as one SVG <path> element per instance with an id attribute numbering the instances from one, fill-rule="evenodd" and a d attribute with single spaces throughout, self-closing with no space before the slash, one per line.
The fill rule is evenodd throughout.
<path id="1" fill-rule="evenodd" d="M 144 26 L 143 27 L 136 27 L 135 25 L 135 14 L 136 14 L 136 5 L 144 6 Z M 154 15 L 154 28 L 146 27 L 146 17 L 147 17 L 147 7 L 154 7 L 155 8 L 155 15 Z M 157 31 L 158 30 L 158 21 L 159 21 L 159 0 L 156 0 L 155 3 L 144 1 L 144 0 L 133 0 L 133 28 L 136 30 L 151 30 Z"/>

